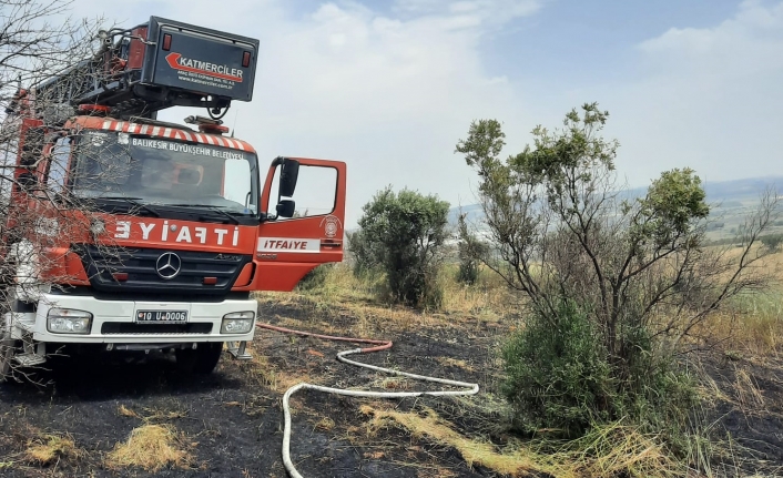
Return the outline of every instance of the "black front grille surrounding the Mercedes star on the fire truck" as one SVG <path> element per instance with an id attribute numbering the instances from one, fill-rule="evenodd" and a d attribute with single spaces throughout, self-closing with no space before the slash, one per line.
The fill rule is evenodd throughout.
<path id="1" fill-rule="evenodd" d="M 226 295 L 251 255 L 220 254 L 157 248 L 96 247 L 91 244 L 72 246 L 82 260 L 90 277 L 90 285 L 102 293 L 183 293 L 186 295 Z M 157 274 L 156 263 L 164 253 L 175 253 L 181 261 L 180 273 L 172 278 Z M 115 273 L 128 274 L 128 279 L 116 281 Z M 205 285 L 204 277 L 215 277 L 217 283 Z"/>

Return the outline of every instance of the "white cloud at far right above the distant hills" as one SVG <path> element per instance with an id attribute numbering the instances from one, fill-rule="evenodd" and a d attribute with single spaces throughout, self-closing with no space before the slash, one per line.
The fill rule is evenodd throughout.
<path id="1" fill-rule="evenodd" d="M 639 45 L 640 77 L 604 92 L 633 183 L 694 167 L 708 181 L 783 174 L 783 2 L 743 2 L 712 28 Z"/>

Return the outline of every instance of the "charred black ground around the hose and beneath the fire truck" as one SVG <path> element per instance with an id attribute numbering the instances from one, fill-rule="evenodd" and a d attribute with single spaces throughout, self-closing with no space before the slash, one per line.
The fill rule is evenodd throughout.
<path id="1" fill-rule="evenodd" d="M 307 304 L 262 304 L 260 316 L 271 323 L 294 318 L 302 329 L 324 332 L 325 324 L 349 334 L 356 319 L 345 312 L 326 315 Z M 464 382 L 477 382 L 479 396 L 462 400 L 416 398 L 392 400 L 398 410 L 431 408 L 462 434 L 491 439 L 501 447 L 508 438 L 504 414 L 486 407 L 497 400 L 498 365 L 494 349 L 508 334 L 508 325 L 477 318 L 430 317 L 425 325 L 399 330 L 372 324 L 377 338 L 390 338 L 389 352 L 359 360 Z M 286 325 L 293 325 L 287 323 Z M 375 334 L 375 333 L 374 333 Z M 0 385 L 0 476 L 2 477 L 285 477 L 281 444 L 282 383 L 303 377 L 321 385 L 387 389 L 435 389 L 434 385 L 403 382 L 389 388 L 386 376 L 337 363 L 335 354 L 349 344 L 292 337 L 260 329 L 254 354 L 258 363 L 242 364 L 225 355 L 209 376 L 182 375 L 173 357 L 162 354 L 129 356 L 102 354 L 61 358 L 51 370 L 38 370 L 39 384 Z M 715 434 L 730 434 L 741 445 L 728 464 L 715 462 L 716 476 L 756 472 L 776 476 L 783 465 L 783 382 L 779 363 L 726 362 L 705 357 L 705 370 L 730 390 L 738 367 L 750 374 L 764 400 L 755 408 L 736 401 L 718 401 L 711 410 Z M 459 364 L 459 365 L 458 365 Z M 255 368 L 254 368 L 255 367 Z M 262 372 L 266 372 L 264 375 Z M 293 399 L 292 455 L 305 477 L 494 477 L 481 467 L 470 468 L 448 447 L 413 437 L 389 427 L 367 435 L 369 417 L 354 399 L 303 391 Z M 120 414 L 120 407 L 139 417 Z M 380 404 L 383 406 L 383 404 Z M 140 417 L 148 417 L 146 421 Z M 324 418 L 331 423 L 324 426 Z M 328 420 L 327 420 L 328 421 Z M 193 462 L 186 469 L 157 472 L 106 469 L 104 458 L 115 444 L 144 423 L 170 424 L 184 434 Z M 41 434 L 69 434 L 84 452 L 55 464 L 27 462 L 23 450 Z"/>

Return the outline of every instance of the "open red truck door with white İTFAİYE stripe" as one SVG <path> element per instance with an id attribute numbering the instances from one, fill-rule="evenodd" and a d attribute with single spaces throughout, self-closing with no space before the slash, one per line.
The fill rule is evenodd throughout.
<path id="1" fill-rule="evenodd" d="M 261 195 L 253 282 L 256 291 L 291 291 L 309 271 L 343 260 L 346 165 L 277 157 Z M 293 180 L 293 181 L 292 181 Z"/>

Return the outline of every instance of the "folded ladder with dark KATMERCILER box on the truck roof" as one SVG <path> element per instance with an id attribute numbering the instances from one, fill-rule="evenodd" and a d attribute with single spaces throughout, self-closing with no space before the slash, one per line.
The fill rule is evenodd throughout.
<path id="1" fill-rule="evenodd" d="M 201 106 L 221 118 L 232 100 L 253 96 L 258 40 L 157 17 L 99 38 L 103 43 L 93 58 L 35 85 L 38 110 L 95 104 L 129 119 Z"/>

